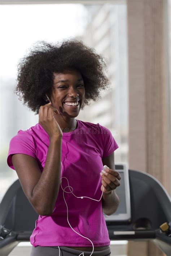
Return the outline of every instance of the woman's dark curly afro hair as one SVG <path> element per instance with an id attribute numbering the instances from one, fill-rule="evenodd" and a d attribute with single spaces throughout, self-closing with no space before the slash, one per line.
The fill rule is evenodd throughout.
<path id="1" fill-rule="evenodd" d="M 83 109 L 91 99 L 96 101 L 101 98 L 101 90 L 110 89 L 109 79 L 103 72 L 103 68 L 107 71 L 103 58 L 93 48 L 74 38 L 56 44 L 37 41 L 35 49 L 31 49 L 29 55 L 21 58 L 17 65 L 17 86 L 14 93 L 19 92 L 19 100 L 23 98 L 23 105 L 27 104 L 36 115 L 40 106 L 47 104 L 45 94 L 51 96 L 53 72 L 76 69 L 84 80 Z"/>

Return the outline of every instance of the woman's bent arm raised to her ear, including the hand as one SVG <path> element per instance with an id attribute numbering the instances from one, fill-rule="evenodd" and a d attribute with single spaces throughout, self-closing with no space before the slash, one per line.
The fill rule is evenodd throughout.
<path id="1" fill-rule="evenodd" d="M 39 109 L 39 123 L 49 135 L 43 172 L 41 173 L 34 157 L 24 153 L 12 156 L 12 163 L 23 192 L 40 215 L 52 214 L 60 187 L 62 131 L 54 118 L 53 110 L 59 114 L 51 104 L 41 106 Z"/>

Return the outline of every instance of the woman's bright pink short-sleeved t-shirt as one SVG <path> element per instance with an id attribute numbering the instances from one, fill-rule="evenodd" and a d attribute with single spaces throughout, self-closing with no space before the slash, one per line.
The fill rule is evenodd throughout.
<path id="1" fill-rule="evenodd" d="M 35 229 L 30 236 L 30 243 L 36 246 L 68 246 L 68 247 L 95 247 L 110 245 L 109 233 L 102 212 L 101 176 L 103 169 L 102 158 L 109 156 L 118 148 L 111 131 L 99 123 L 83 122 L 77 120 L 78 126 L 74 131 L 63 133 L 62 137 L 62 173 L 67 180 L 62 178 L 58 197 L 53 213 L 49 216 L 39 215 L 35 222 Z M 49 135 L 37 123 L 28 130 L 19 130 L 17 135 L 10 140 L 7 157 L 8 166 L 14 169 L 11 156 L 23 153 L 34 157 L 38 161 L 41 172 L 43 171 Z M 109 166 L 110 168 L 110 166 Z M 15 170 L 15 169 L 14 169 Z M 73 187 L 73 189 L 71 188 Z M 76 198 L 87 196 L 89 198 Z M 87 237 L 87 238 L 84 238 Z"/>

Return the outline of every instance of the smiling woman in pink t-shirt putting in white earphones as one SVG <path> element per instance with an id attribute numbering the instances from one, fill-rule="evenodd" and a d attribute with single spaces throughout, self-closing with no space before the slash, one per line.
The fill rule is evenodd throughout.
<path id="1" fill-rule="evenodd" d="M 21 60 L 16 88 L 39 122 L 10 140 L 7 159 L 39 214 L 31 256 L 110 255 L 103 212 L 119 204 L 118 145 L 106 127 L 75 119 L 107 88 L 105 62 L 82 41 L 41 43 Z M 116 205 L 109 211 L 110 198 Z"/>

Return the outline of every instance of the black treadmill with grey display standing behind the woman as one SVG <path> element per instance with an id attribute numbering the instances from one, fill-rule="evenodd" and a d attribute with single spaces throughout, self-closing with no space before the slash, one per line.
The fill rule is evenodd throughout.
<path id="1" fill-rule="evenodd" d="M 152 175 L 115 164 L 121 175 L 116 188 L 117 211 L 104 214 L 110 240 L 151 240 L 171 256 L 171 198 Z M 30 242 L 39 215 L 26 198 L 19 179 L 0 204 L 0 255 L 7 256 L 19 242 Z M 26 221 L 27 220 L 27 221 Z"/>

